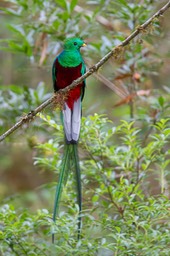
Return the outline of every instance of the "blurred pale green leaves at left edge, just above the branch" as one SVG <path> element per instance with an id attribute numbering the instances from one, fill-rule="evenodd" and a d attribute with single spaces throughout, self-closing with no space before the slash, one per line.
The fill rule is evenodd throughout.
<path id="1" fill-rule="evenodd" d="M 1 128 L 4 132 L 11 123 L 18 121 L 18 116 L 37 107 L 50 96 L 43 83 L 39 83 L 36 90 L 27 86 L 19 87 L 10 85 L 8 88 L 1 86 L 0 90 L 0 116 Z"/>

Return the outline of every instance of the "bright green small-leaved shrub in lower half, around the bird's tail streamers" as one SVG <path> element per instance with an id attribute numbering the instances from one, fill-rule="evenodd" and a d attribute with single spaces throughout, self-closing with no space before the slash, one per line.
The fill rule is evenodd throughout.
<path id="1" fill-rule="evenodd" d="M 49 116 L 40 117 L 44 125 L 54 129 L 54 134 L 62 132 L 61 126 Z M 57 250 L 58 255 L 167 255 L 170 203 L 161 192 L 166 193 L 165 170 L 170 152 L 161 152 L 170 142 L 168 120 L 160 120 L 153 129 L 147 145 L 142 145 L 140 130 L 134 122 L 123 121 L 112 127 L 104 116 L 83 118 L 79 145 L 84 191 L 82 239 L 76 241 L 78 209 L 72 177 L 56 226 L 47 210 L 30 215 L 9 205 L 1 208 L 2 252 L 55 255 Z M 35 164 L 59 173 L 62 137 L 53 137 L 38 146 Z M 160 193 L 155 196 L 149 189 L 152 173 L 157 178 L 161 173 Z M 49 247 L 52 229 L 56 244 Z"/>

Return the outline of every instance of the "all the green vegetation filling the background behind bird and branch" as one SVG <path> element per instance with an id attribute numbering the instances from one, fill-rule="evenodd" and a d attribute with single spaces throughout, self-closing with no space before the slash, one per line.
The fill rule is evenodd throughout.
<path id="1" fill-rule="evenodd" d="M 66 37 L 87 41 L 90 67 L 161 2 L 2 1 L 1 134 L 52 95 L 51 65 Z M 169 27 L 167 11 L 87 79 L 80 241 L 73 173 L 57 224 L 51 219 L 63 153 L 59 109 L 46 108 L 1 143 L 1 255 L 168 255 Z"/>

